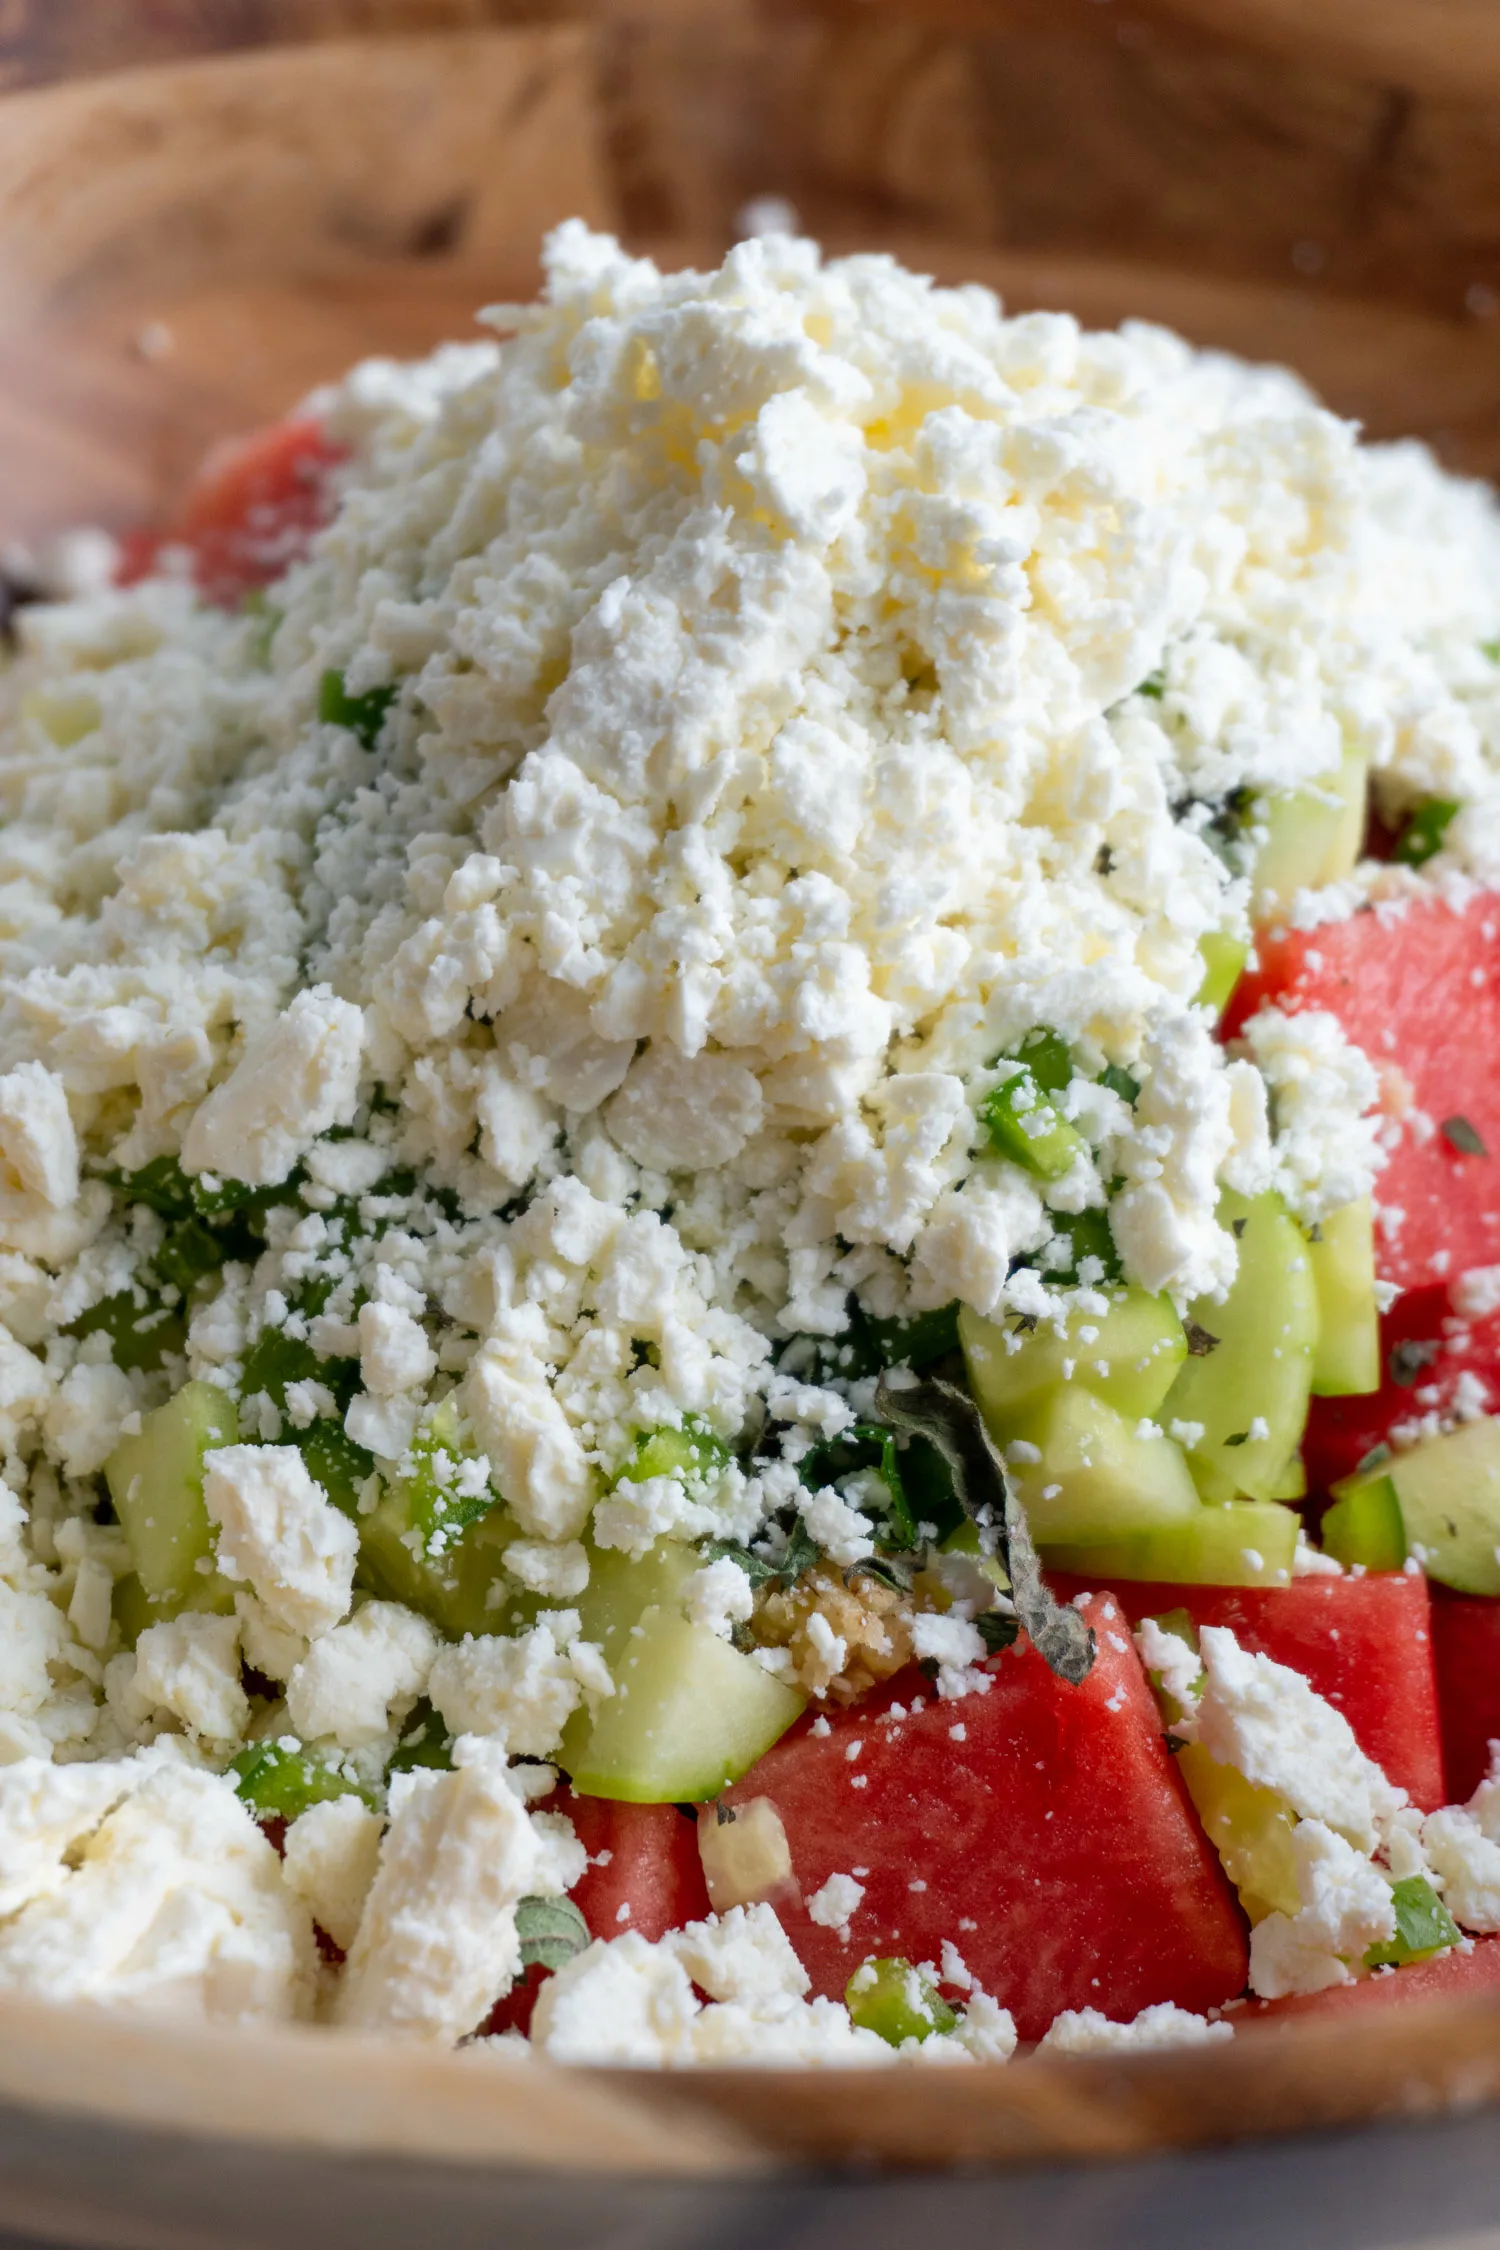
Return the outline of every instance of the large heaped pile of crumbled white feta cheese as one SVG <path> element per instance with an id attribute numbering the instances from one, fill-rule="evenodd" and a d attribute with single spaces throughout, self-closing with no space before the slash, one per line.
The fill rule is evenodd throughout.
<path id="1" fill-rule="evenodd" d="M 868 1400 L 787 1339 L 1057 1312 L 1100 1276 L 1055 1222 L 1106 1195 L 1127 1278 L 1187 1303 L 1232 1280 L 1221 1184 L 1304 1220 L 1370 1192 L 1381 1080 L 1331 1017 L 1226 1055 L 1194 1006 L 1199 940 L 1248 938 L 1223 806 L 1354 747 L 1392 819 L 1462 810 L 1421 878 L 1291 916 L 1500 880 L 1500 518 L 1421 448 L 1158 328 L 778 236 L 661 274 L 571 223 L 490 322 L 315 400 L 340 502 L 268 601 L 76 594 L 0 677 L 0 1987 L 472 2032 L 515 1904 L 582 1865 L 513 1760 L 607 1692 L 589 1557 L 796 1508 L 870 1552 L 798 1478 Z M 378 724 L 319 716 L 328 673 Z M 1039 1024 L 1079 1073 L 1050 1186 L 976 1125 Z M 286 1202 L 124 1368 L 88 1316 L 162 1220 L 115 1184 L 173 1161 Z M 546 1622 L 441 1647 L 355 1591 L 295 1444 L 333 1390 L 241 1393 L 270 1330 L 358 1361 L 380 1476 L 461 1415 Z M 101 1467 L 187 1379 L 238 1395 L 207 1478 L 234 1616 L 128 1649 Z M 616 1483 L 686 1418 L 767 1436 L 711 1503 Z M 711 1562 L 688 1602 L 729 1634 L 749 1580 Z M 385 1840 L 315 1807 L 279 1861 L 223 1780 L 247 1735 L 373 1786 L 421 1694 L 452 1771 L 391 1784 Z M 720 1955 L 661 1969 L 679 2014 L 724 1989 L 715 2054 L 753 2048 Z"/>

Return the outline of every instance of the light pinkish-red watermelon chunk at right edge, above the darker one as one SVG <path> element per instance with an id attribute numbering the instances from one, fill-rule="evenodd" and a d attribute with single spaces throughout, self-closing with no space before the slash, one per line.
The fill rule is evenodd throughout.
<path id="1" fill-rule="evenodd" d="M 1403 1073 L 1435 1127 L 1426 1138 L 1408 1127 L 1376 1181 L 1381 1276 L 1424 1289 L 1500 1264 L 1500 898 L 1482 891 L 1455 909 L 1435 893 L 1322 929 L 1262 932 L 1257 963 L 1226 1040 L 1266 1004 L 1327 1008 L 1376 1066 Z M 1444 1120 L 1473 1127 L 1484 1154 L 1455 1145 Z"/>

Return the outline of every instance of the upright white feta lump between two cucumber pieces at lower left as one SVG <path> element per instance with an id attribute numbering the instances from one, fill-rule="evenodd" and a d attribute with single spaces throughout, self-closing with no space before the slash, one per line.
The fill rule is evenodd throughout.
<path id="1" fill-rule="evenodd" d="M 295 1444 L 225 1444 L 202 1458 L 218 1568 L 247 1580 L 270 1620 L 324 1634 L 349 1609 L 360 1534 L 308 1476 Z"/>

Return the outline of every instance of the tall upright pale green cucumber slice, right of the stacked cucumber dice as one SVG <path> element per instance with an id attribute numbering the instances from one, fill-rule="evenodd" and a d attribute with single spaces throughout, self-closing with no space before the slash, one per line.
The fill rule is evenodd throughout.
<path id="1" fill-rule="evenodd" d="M 1160 1420 L 1199 1422 L 1194 1476 L 1268 1501 L 1302 1442 L 1318 1343 L 1318 1292 L 1302 1228 L 1280 1195 L 1219 1197 L 1219 1224 L 1239 1238 L 1239 1271 L 1228 1298 L 1199 1298 L 1199 1336 L 1217 1339 L 1185 1361 Z"/>

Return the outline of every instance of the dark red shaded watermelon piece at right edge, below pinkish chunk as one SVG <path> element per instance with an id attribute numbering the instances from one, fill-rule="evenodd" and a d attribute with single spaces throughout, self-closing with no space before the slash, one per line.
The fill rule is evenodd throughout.
<path id="1" fill-rule="evenodd" d="M 1349 1476 L 1401 1424 L 1455 1404 L 1500 1408 L 1500 1314 L 1460 1321 L 1446 1287 L 1410 1289 L 1381 1318 L 1381 1368 L 1379 1390 L 1311 1402 L 1302 1438 L 1311 1492 Z"/>

